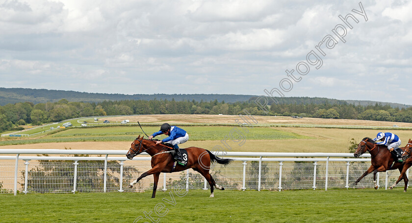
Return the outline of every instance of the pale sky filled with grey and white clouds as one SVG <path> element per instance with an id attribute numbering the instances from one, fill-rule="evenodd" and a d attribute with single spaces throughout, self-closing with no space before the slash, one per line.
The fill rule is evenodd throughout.
<path id="1" fill-rule="evenodd" d="M 410 105 L 411 12 L 406 0 L 0 0 L 0 87 Z"/>

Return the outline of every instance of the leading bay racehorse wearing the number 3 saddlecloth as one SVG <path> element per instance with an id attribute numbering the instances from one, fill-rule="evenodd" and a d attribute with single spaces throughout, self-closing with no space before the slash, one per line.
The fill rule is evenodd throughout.
<path id="1" fill-rule="evenodd" d="M 131 143 L 130 149 L 126 156 L 128 159 L 132 159 L 134 156 L 137 156 L 143 152 L 148 153 L 152 156 L 152 169 L 140 175 L 139 178 L 130 183 L 129 188 L 132 188 L 141 178 L 147 177 L 153 174 L 154 184 L 153 184 L 153 194 L 152 198 L 156 195 L 157 182 L 159 180 L 159 175 L 163 173 L 172 173 L 180 172 L 189 168 L 199 172 L 203 177 L 206 178 L 207 182 L 210 185 L 210 198 L 213 198 L 213 187 L 215 186 L 219 190 L 225 190 L 225 188 L 219 186 L 212 176 L 209 174 L 210 163 L 215 161 L 219 164 L 228 164 L 232 159 L 223 159 L 213 155 L 210 151 L 198 148 L 198 147 L 189 147 L 185 150 L 187 151 L 187 164 L 183 166 L 176 165 L 176 162 L 173 159 L 173 156 L 168 149 L 171 147 L 166 146 L 165 144 L 156 144 L 154 140 L 143 139 L 143 136 L 140 138 L 140 135 Z M 185 157 L 184 157 L 185 158 Z"/>

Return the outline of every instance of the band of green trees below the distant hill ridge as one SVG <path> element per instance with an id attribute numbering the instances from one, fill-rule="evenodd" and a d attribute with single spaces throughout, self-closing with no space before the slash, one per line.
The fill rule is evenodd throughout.
<path id="1" fill-rule="evenodd" d="M 258 108 L 253 98 L 245 102 L 225 101 L 175 101 L 172 100 L 121 100 L 103 102 L 58 102 L 34 104 L 19 102 L 0 106 L 0 132 L 19 126 L 41 125 L 70 118 L 123 114 L 240 114 L 247 110 L 252 115 L 301 116 L 316 118 L 362 119 L 377 121 L 412 122 L 412 107 L 392 108 L 389 105 L 355 105 L 349 103 L 272 104 L 265 112 Z"/>

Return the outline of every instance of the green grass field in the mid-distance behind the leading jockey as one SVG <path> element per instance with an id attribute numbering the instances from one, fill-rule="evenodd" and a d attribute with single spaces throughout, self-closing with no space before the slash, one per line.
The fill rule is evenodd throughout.
<path id="1" fill-rule="evenodd" d="M 150 135 L 158 131 L 158 127 L 145 127 L 146 134 Z M 207 140 L 221 140 L 226 135 L 231 134 L 233 127 L 228 126 L 188 126 L 184 127 L 189 133 L 191 141 L 207 141 Z M 249 133 L 242 130 L 241 133 L 248 140 L 252 139 L 308 139 L 309 136 L 301 134 L 276 130 L 271 127 L 254 127 L 248 128 Z M 25 139 L 8 138 L 0 141 L 0 145 L 20 145 L 32 143 L 47 143 L 47 142 L 81 142 L 81 141 L 132 141 L 138 135 L 144 135 L 137 126 L 111 126 L 111 127 L 95 127 L 95 128 L 70 128 L 61 129 L 58 132 L 52 132 L 49 135 L 36 138 Z M 234 138 L 240 138 L 237 132 L 232 132 Z M 164 134 L 156 138 L 165 138 Z"/>

